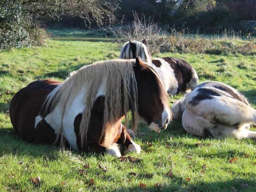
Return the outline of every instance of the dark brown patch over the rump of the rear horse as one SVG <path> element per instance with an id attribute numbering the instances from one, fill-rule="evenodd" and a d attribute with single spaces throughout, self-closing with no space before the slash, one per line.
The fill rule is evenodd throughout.
<path id="1" fill-rule="evenodd" d="M 169 63 L 174 71 L 178 81 L 177 93 L 180 91 L 186 92 L 186 84 L 192 79 L 193 68 L 187 61 L 175 57 L 163 57 L 162 59 Z"/>

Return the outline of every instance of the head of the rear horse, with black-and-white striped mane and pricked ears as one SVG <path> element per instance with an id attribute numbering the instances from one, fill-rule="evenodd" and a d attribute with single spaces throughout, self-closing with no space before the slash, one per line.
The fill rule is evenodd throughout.
<path id="1" fill-rule="evenodd" d="M 127 41 L 121 49 L 119 59 L 135 59 L 139 56 L 148 64 L 151 63 L 152 58 L 147 47 L 146 39 L 144 39 L 142 42 L 130 40 Z"/>

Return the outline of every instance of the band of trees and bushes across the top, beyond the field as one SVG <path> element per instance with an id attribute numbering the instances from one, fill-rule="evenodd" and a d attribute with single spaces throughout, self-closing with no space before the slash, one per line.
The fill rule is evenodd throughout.
<path id="1" fill-rule="evenodd" d="M 139 23 L 134 24 L 135 15 Z M 137 38 L 132 35 L 137 28 L 140 36 L 148 39 L 148 33 L 154 33 L 157 42 L 163 31 L 173 30 L 220 34 L 227 29 L 246 35 L 250 31 L 242 28 L 240 21 L 255 18 L 255 0 L 4 0 L 0 1 L 0 50 L 42 45 L 47 37 L 45 28 L 104 26 L 103 35 L 109 36 L 120 34 L 116 29 L 121 26 L 122 30 L 131 29 L 125 39 Z M 144 27 L 147 34 L 141 31 Z M 157 50 L 165 47 L 162 43 L 156 46 Z"/>

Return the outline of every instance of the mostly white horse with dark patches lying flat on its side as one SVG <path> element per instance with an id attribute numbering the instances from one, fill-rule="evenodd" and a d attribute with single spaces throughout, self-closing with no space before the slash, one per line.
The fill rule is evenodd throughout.
<path id="1" fill-rule="evenodd" d="M 256 124 L 256 110 L 234 88 L 204 82 L 187 93 L 172 108 L 174 119 L 182 116 L 184 129 L 201 137 L 256 138 L 250 124 Z"/>

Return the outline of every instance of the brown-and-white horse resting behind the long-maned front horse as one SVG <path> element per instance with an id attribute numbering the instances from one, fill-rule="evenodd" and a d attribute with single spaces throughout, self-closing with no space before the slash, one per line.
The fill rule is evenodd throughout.
<path id="1" fill-rule="evenodd" d="M 198 77 L 195 69 L 185 61 L 175 57 L 164 57 L 152 60 L 148 51 L 147 42 L 128 41 L 120 52 L 120 59 L 132 59 L 140 56 L 143 61 L 157 71 L 162 80 L 165 90 L 175 95 L 179 92 L 193 90 L 198 84 Z"/>

